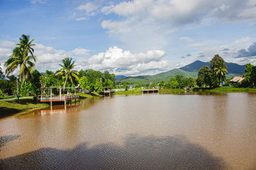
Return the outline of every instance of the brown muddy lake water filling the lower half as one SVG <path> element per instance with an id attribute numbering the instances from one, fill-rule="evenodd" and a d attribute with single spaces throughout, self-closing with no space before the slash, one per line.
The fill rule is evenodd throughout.
<path id="1" fill-rule="evenodd" d="M 86 100 L 0 119 L 0 169 L 256 169 L 256 94 Z"/>

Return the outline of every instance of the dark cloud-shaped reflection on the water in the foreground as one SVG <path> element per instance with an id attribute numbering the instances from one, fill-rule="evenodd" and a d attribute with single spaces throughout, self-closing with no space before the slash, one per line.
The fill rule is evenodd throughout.
<path id="1" fill-rule="evenodd" d="M 157 138 L 134 134 L 125 139 L 123 146 L 103 143 L 88 148 L 81 143 L 68 150 L 42 148 L 1 162 L 6 169 L 222 169 L 224 166 L 220 159 L 184 136 Z"/>

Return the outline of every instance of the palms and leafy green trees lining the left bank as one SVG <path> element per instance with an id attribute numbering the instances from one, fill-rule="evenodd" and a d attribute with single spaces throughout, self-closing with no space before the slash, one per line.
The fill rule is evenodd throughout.
<path id="1" fill-rule="evenodd" d="M 99 91 L 102 87 L 113 87 L 115 74 L 108 71 L 101 73 L 93 69 L 76 71 L 75 60 L 66 57 L 61 60 L 60 69 L 53 73 L 46 70 L 40 73 L 35 69 L 36 56 L 33 46 L 35 44 L 27 35 L 22 34 L 13 49 L 12 55 L 4 62 L 5 73 L 0 69 L 0 97 L 4 94 L 17 94 L 20 96 L 38 96 L 41 87 L 75 87 L 80 85 L 82 89 Z M 1 67 L 0 67 L 1 68 Z M 11 75 L 18 70 L 17 77 Z"/>

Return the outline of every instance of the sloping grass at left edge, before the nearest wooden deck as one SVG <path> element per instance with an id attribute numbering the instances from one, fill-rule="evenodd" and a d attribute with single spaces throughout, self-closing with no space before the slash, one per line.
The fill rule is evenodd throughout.
<path id="1" fill-rule="evenodd" d="M 16 99 L 0 101 L 0 117 L 38 108 L 46 108 L 47 106 L 49 104 L 37 103 L 33 99 L 20 99 L 19 103 L 17 103 Z"/>

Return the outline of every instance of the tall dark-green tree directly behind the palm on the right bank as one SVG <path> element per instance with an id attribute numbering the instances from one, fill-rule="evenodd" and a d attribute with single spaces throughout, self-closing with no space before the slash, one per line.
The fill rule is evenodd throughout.
<path id="1" fill-rule="evenodd" d="M 218 85 L 220 85 L 220 77 L 218 76 L 217 69 L 218 67 L 226 67 L 227 66 L 225 64 L 225 61 L 220 57 L 220 55 L 216 54 L 214 55 L 214 57 L 211 59 L 210 61 L 210 65 L 211 65 L 211 71 L 210 71 L 210 76 L 211 76 L 211 86 L 212 87 L 216 87 Z M 221 76 L 222 79 L 225 78 L 225 74 L 223 74 L 223 76 Z"/>

